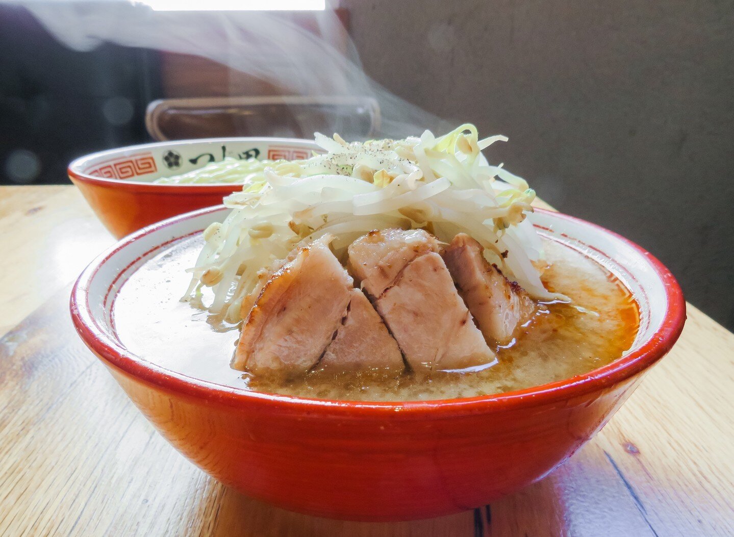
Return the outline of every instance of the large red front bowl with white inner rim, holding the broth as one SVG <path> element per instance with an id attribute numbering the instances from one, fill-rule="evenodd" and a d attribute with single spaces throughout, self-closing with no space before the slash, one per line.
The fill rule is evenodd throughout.
<path id="1" fill-rule="evenodd" d="M 176 449 L 222 483 L 293 511 L 418 519 L 514 492 L 592 438 L 683 328 L 683 295 L 658 260 L 594 224 L 537 211 L 541 233 L 603 263 L 639 305 L 631 350 L 591 373 L 501 395 L 364 403 L 248 392 L 131 354 L 115 331 L 120 286 L 145 260 L 225 214 L 208 208 L 128 236 L 81 274 L 71 314 L 87 346 Z"/>

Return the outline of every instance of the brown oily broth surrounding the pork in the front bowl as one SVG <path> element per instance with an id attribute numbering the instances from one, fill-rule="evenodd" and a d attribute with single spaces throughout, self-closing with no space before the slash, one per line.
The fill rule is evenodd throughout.
<path id="1" fill-rule="evenodd" d="M 540 304 L 515 342 L 496 348 L 499 363 L 473 373 L 326 375 L 269 382 L 229 366 L 239 325 L 222 324 L 206 310 L 179 302 L 202 244 L 191 238 L 149 260 L 123 285 L 115 327 L 129 351 L 197 379 L 261 392 L 360 401 L 465 398 L 521 390 L 587 373 L 631 347 L 639 318 L 632 297 L 602 266 L 568 246 L 545 240 L 548 288 L 570 304 Z M 204 298 L 205 302 L 211 296 Z M 581 306 L 588 312 L 582 312 Z M 593 312 L 593 313 L 592 313 Z M 596 315 L 598 314 L 598 315 Z"/>

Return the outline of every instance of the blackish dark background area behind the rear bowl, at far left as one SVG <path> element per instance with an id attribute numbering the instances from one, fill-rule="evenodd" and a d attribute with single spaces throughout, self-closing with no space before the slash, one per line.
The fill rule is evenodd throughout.
<path id="1" fill-rule="evenodd" d="M 156 62 L 110 44 L 72 51 L 23 7 L 0 5 L 0 183 L 69 183 L 73 158 L 148 140 Z"/>

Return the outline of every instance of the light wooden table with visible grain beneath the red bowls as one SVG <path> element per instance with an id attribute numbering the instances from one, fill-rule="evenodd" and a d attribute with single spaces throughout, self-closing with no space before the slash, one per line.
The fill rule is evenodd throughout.
<path id="1" fill-rule="evenodd" d="M 70 282 L 112 242 L 73 187 L 0 188 L 0 536 L 734 535 L 734 335 L 691 305 L 675 349 L 548 478 L 440 519 L 338 522 L 208 478 L 84 347 Z"/>

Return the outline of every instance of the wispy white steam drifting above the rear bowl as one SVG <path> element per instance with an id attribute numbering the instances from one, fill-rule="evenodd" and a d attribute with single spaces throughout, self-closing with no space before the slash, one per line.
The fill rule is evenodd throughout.
<path id="1" fill-rule="evenodd" d="M 310 32 L 283 12 L 154 11 L 145 4 L 117 1 L 25 5 L 49 32 L 79 51 L 109 42 L 194 54 L 266 81 L 282 95 L 374 98 L 382 116 L 374 136 L 403 138 L 419 136 L 426 128 L 449 130 L 443 120 L 366 76 L 354 44 L 331 10 L 314 13 L 317 31 Z M 230 87 L 230 93 L 241 95 L 241 89 Z M 366 135 L 357 132 L 349 117 L 333 122 L 330 130 L 346 139 Z"/>

